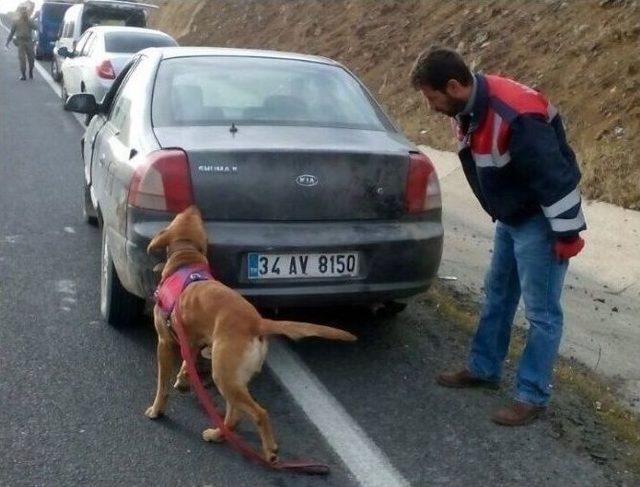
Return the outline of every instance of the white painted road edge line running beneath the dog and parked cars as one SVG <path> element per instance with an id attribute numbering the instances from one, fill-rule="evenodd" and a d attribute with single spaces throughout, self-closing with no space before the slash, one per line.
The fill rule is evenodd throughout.
<path id="1" fill-rule="evenodd" d="M 39 63 L 36 69 L 60 96 L 49 73 Z M 84 129 L 82 118 L 74 115 Z M 267 365 L 362 487 L 411 485 L 294 352 L 279 340 L 270 348 Z"/>

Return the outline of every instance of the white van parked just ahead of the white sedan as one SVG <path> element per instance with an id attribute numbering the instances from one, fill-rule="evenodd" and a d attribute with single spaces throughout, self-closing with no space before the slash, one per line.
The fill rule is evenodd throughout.
<path id="1" fill-rule="evenodd" d="M 64 14 L 58 40 L 53 48 L 51 59 L 51 76 L 60 81 L 62 62 L 64 58 L 57 50 L 66 47 L 74 52 L 78 39 L 89 29 L 97 25 L 117 25 L 126 27 L 146 27 L 149 9 L 158 8 L 156 5 L 134 3 L 120 0 L 85 0 L 69 7 Z"/>

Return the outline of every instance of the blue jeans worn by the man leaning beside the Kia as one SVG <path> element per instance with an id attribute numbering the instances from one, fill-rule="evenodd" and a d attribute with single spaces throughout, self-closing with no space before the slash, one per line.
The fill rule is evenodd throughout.
<path id="1" fill-rule="evenodd" d="M 560 295 L 568 262 L 556 259 L 553 242 L 542 214 L 517 226 L 497 223 L 485 278 L 486 300 L 467 365 L 477 377 L 500 380 L 522 294 L 529 332 L 518 367 L 515 399 L 537 406 L 549 401 L 562 336 Z"/>

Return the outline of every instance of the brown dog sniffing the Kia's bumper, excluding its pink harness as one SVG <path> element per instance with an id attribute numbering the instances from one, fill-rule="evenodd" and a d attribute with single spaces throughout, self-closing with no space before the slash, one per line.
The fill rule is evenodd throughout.
<path id="1" fill-rule="evenodd" d="M 166 278 L 186 265 L 207 263 L 207 236 L 200 211 L 190 206 L 175 217 L 149 243 L 147 252 L 167 251 L 162 270 Z M 331 340 L 353 341 L 351 333 L 328 326 L 273 321 L 262 318 L 239 293 L 218 281 L 198 281 L 187 286 L 180 295 L 180 319 L 191 348 L 210 347 L 213 381 L 226 401 L 225 425 L 233 429 L 240 415 L 248 416 L 256 425 L 267 461 L 275 461 L 278 447 L 267 412 L 249 394 L 248 384 L 260 371 L 267 354 L 269 335 L 286 335 L 298 340 L 317 336 Z M 172 318 L 176 311 L 173 311 Z M 154 324 L 158 333 L 158 388 L 146 415 L 162 414 L 173 370 L 175 343 L 158 305 L 154 307 Z M 186 386 L 185 364 L 182 364 L 174 387 Z M 220 431 L 207 429 L 206 441 L 219 441 Z"/>

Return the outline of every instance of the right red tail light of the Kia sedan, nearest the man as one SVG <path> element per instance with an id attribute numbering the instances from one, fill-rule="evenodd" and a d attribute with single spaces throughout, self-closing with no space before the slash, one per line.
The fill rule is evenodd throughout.
<path id="1" fill-rule="evenodd" d="M 420 213 L 442 207 L 440 183 L 431 160 L 424 154 L 411 153 L 407 187 L 404 194 L 406 213 Z"/>

